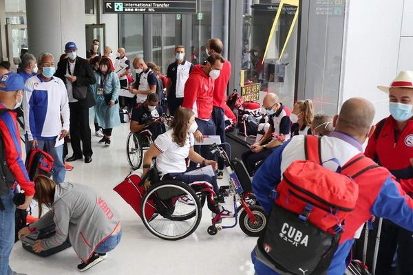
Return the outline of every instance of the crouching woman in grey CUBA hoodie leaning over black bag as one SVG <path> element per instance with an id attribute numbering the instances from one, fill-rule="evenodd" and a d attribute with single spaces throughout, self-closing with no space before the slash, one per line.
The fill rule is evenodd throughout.
<path id="1" fill-rule="evenodd" d="M 94 190 L 80 184 L 56 184 L 49 177 L 39 175 L 34 180 L 34 200 L 39 203 L 39 220 L 19 231 L 19 239 L 31 232 L 56 224 L 56 233 L 37 240 L 34 252 L 61 245 L 69 237 L 70 243 L 82 263 L 78 270 L 85 271 L 107 259 L 106 253 L 120 242 L 122 230 L 120 215 Z M 52 210 L 43 217 L 43 206 Z"/>

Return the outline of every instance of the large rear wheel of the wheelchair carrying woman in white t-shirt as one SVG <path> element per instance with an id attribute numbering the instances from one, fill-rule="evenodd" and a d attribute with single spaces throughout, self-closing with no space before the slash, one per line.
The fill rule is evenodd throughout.
<path id="1" fill-rule="evenodd" d="M 182 196 L 189 197 L 194 203 L 188 205 L 178 199 Z M 192 234 L 200 224 L 202 208 L 200 199 L 188 184 L 181 181 L 162 181 L 153 184 L 142 199 L 142 213 L 147 208 L 156 208 L 156 214 L 147 219 L 142 214 L 142 221 L 151 234 L 160 239 L 176 241 L 184 239 Z M 187 217 L 193 213 L 193 217 L 176 220 L 173 217 Z"/>

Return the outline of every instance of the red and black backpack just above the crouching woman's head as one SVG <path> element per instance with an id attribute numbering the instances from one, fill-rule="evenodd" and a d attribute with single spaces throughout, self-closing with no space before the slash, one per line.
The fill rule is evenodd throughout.
<path id="1" fill-rule="evenodd" d="M 28 170 L 30 180 L 34 180 L 37 175 L 52 176 L 52 168 L 54 159 L 45 151 L 34 148 L 30 150 L 28 157 L 26 157 L 25 166 Z"/>

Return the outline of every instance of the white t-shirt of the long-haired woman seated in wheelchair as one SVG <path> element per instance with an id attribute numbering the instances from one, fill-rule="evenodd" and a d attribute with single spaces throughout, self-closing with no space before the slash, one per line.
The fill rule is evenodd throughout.
<path id="1" fill-rule="evenodd" d="M 168 173 L 184 173 L 187 170 L 185 159 L 189 155 L 189 149 L 195 142 L 195 138 L 191 133 L 187 135 L 185 145 L 180 147 L 176 142 L 173 142 L 172 133 L 172 129 L 162 133 L 153 142 L 153 145 L 162 152 L 156 157 L 156 168 L 162 176 Z"/>

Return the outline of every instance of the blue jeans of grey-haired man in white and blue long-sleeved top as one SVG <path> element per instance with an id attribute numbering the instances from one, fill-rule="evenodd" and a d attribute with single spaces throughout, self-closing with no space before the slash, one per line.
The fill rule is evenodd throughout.
<path id="1" fill-rule="evenodd" d="M 52 169 L 53 180 L 56 184 L 61 184 L 65 181 L 66 176 L 66 166 L 65 162 L 63 161 L 63 145 L 54 147 L 56 144 L 55 140 L 37 140 L 37 148 L 42 149 L 49 153 L 54 159 L 54 165 Z M 25 139 L 25 148 L 26 148 L 26 155 L 29 155 L 30 144 L 28 138 Z"/>

